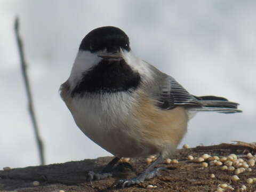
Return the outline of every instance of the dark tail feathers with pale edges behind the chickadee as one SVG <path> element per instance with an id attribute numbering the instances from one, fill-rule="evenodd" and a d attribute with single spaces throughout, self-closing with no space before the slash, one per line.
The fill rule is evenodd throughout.
<path id="1" fill-rule="evenodd" d="M 237 109 L 239 103 L 228 101 L 226 98 L 211 95 L 195 97 L 202 104 L 202 108 L 194 108 L 194 111 L 216 111 L 218 113 L 240 113 Z"/>

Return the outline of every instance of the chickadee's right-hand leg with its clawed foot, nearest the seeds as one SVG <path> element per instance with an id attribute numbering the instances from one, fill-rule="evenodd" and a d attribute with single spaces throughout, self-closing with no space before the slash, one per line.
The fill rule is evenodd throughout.
<path id="1" fill-rule="evenodd" d="M 151 163 L 144 171 L 142 171 L 137 177 L 132 178 L 132 179 L 121 179 L 117 180 L 114 182 L 113 186 L 117 187 L 126 187 L 134 184 L 139 184 L 142 183 L 145 179 L 151 179 L 154 178 L 156 175 L 159 175 L 159 171 L 164 170 L 168 171 L 165 167 L 157 167 L 155 169 L 155 166 L 163 161 L 163 156 L 162 154 L 159 155 L 159 157 Z"/>

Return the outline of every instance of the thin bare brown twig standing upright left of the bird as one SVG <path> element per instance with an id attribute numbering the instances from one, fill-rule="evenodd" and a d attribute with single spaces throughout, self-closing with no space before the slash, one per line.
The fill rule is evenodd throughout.
<path id="1" fill-rule="evenodd" d="M 20 61 L 21 61 L 21 71 L 22 71 L 22 76 L 25 82 L 25 87 L 26 87 L 26 93 L 28 97 L 28 110 L 29 114 L 31 117 L 31 121 L 34 127 L 34 133 L 36 137 L 36 142 L 37 142 L 37 147 L 39 151 L 39 157 L 40 157 L 40 163 L 41 165 L 44 165 L 44 145 L 43 141 L 39 136 L 39 131 L 38 131 L 38 126 L 36 122 L 36 116 L 35 116 L 35 111 L 34 111 L 34 105 L 33 105 L 33 99 L 30 91 L 30 86 L 29 86 L 29 80 L 28 80 L 28 75 L 27 75 L 27 67 L 26 67 L 26 61 L 25 61 L 25 55 L 23 51 L 23 44 L 19 35 L 19 18 L 15 18 L 15 23 L 14 23 L 14 30 L 15 30 L 15 36 L 17 39 L 17 44 L 18 44 L 18 49 L 19 49 L 19 54 L 20 54 Z"/>

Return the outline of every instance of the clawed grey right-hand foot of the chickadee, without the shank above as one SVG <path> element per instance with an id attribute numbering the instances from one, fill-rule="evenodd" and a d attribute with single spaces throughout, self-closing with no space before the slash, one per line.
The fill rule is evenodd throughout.
<path id="1" fill-rule="evenodd" d="M 113 183 L 112 186 L 125 188 L 131 185 L 139 184 L 139 183 L 142 183 L 145 179 L 151 179 L 151 178 L 154 178 L 155 176 L 159 176 L 160 175 L 159 171 L 162 171 L 162 170 L 169 171 L 165 167 L 157 167 L 153 171 L 142 172 L 141 174 L 138 175 L 138 177 L 135 177 L 132 179 L 117 180 L 116 182 Z"/>

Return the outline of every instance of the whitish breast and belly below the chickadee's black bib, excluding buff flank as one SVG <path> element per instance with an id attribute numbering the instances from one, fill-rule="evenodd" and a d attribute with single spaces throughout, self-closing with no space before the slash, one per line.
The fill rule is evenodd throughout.
<path id="1" fill-rule="evenodd" d="M 73 117 L 79 129 L 92 141 L 115 156 L 144 156 L 148 153 L 134 135 L 132 108 L 136 105 L 130 93 L 88 95 L 73 99 Z"/>

